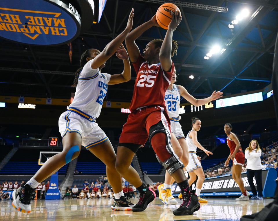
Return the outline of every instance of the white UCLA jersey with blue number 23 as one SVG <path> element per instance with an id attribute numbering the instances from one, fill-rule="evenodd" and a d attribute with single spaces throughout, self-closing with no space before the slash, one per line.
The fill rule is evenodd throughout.
<path id="1" fill-rule="evenodd" d="M 169 117 L 178 117 L 180 109 L 180 90 L 177 85 L 173 84 L 173 90 L 166 90 L 164 101 Z"/>

